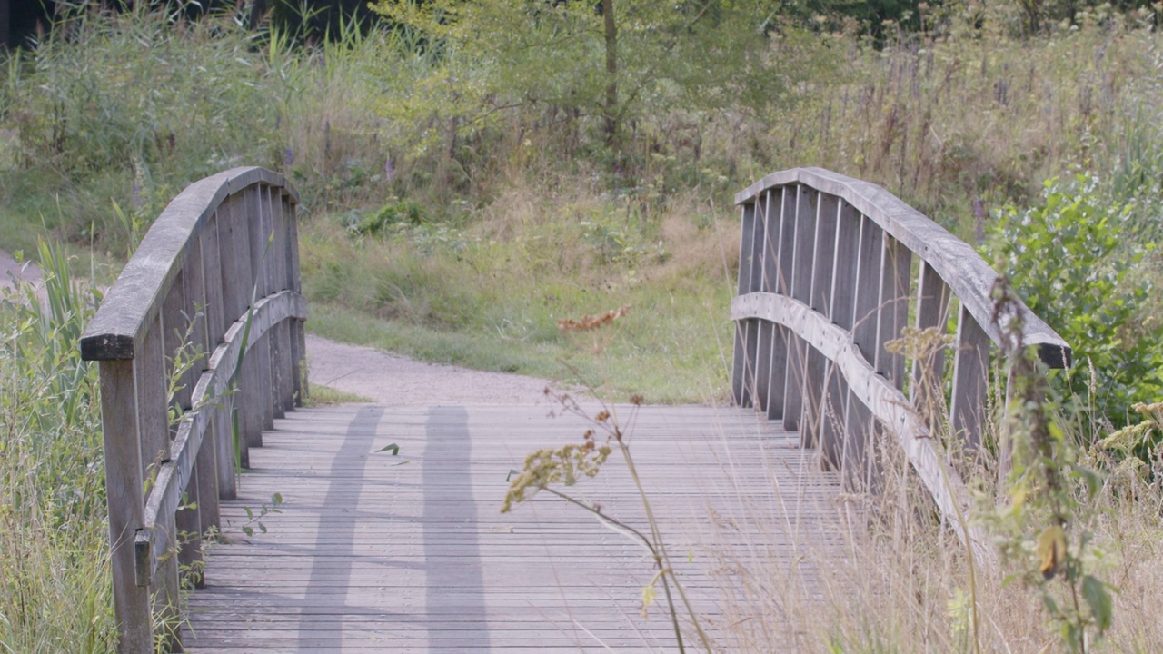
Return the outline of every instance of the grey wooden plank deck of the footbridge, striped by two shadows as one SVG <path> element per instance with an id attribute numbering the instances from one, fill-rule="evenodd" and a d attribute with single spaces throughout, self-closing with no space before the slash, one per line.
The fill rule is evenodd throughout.
<path id="1" fill-rule="evenodd" d="M 582 440 L 585 422 L 551 408 L 352 405 L 277 420 L 251 450 L 240 499 L 223 503 L 230 543 L 209 552 L 207 588 L 190 599 L 187 652 L 675 652 L 663 607 L 640 613 L 654 574 L 642 547 L 547 493 L 499 512 L 527 453 Z M 790 559 L 792 541 L 832 533 L 836 476 L 751 410 L 644 406 L 630 439 L 712 626 L 728 541 L 755 549 L 762 538 L 765 564 L 779 564 L 770 557 Z M 399 456 L 378 452 L 388 443 Z M 616 454 L 572 491 L 645 529 Z M 274 492 L 281 513 L 244 536 L 244 507 Z M 744 505 L 779 518 L 711 528 Z"/>

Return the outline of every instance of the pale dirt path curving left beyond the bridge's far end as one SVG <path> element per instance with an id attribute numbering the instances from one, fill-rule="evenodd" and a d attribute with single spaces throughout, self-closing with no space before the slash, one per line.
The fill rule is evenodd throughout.
<path id="1" fill-rule="evenodd" d="M 19 265 L 0 250 L 0 297 L 14 279 L 42 285 L 35 263 Z M 521 375 L 481 372 L 415 361 L 374 348 L 307 336 L 307 367 L 313 384 L 365 397 L 383 405 L 525 404 L 544 401 L 549 382 Z"/>

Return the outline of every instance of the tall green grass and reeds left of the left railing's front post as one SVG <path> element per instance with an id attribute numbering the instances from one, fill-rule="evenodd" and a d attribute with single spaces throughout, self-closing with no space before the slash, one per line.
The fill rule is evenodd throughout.
<path id="1" fill-rule="evenodd" d="M 93 301 L 44 243 L 42 306 L 0 290 L 0 649 L 113 652 L 95 367 L 77 342 Z"/>

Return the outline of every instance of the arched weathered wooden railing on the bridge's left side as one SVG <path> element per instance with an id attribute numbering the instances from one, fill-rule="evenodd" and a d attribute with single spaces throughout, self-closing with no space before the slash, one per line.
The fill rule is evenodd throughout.
<path id="1" fill-rule="evenodd" d="M 297 201 L 259 168 L 192 184 L 81 337 L 81 356 L 100 361 L 119 652 L 154 652 L 163 631 L 180 649 L 179 567 L 219 527 L 248 448 L 302 394 Z"/>

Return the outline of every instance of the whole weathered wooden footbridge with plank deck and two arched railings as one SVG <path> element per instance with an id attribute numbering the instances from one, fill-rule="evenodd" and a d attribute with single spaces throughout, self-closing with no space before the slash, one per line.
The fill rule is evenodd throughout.
<path id="1" fill-rule="evenodd" d="M 592 400 L 300 406 L 297 200 L 263 169 L 193 184 L 81 340 L 100 361 L 120 651 L 675 651 L 668 614 L 643 606 L 656 570 L 633 539 L 548 495 L 499 511 L 527 453 L 594 426 Z M 606 407 L 725 651 L 719 627 L 739 616 L 722 593 L 748 561 L 792 566 L 798 547 L 839 540 L 833 499 L 875 492 L 882 443 L 984 555 L 952 517 L 958 461 L 986 447 L 991 343 L 1020 334 L 1050 365 L 1070 361 L 1023 307 L 996 317 L 980 257 L 878 186 L 798 169 L 736 202 L 735 406 Z M 894 347 L 906 326 L 944 337 Z M 644 528 L 625 465 L 575 489 Z"/>

